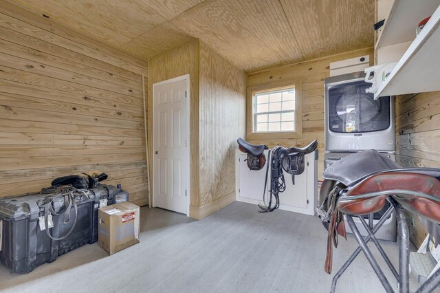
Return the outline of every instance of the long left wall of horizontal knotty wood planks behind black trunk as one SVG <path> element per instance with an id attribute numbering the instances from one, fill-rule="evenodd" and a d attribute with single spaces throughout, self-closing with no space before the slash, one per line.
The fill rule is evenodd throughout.
<path id="1" fill-rule="evenodd" d="M 0 197 L 98 169 L 147 204 L 146 62 L 0 1 Z"/>

